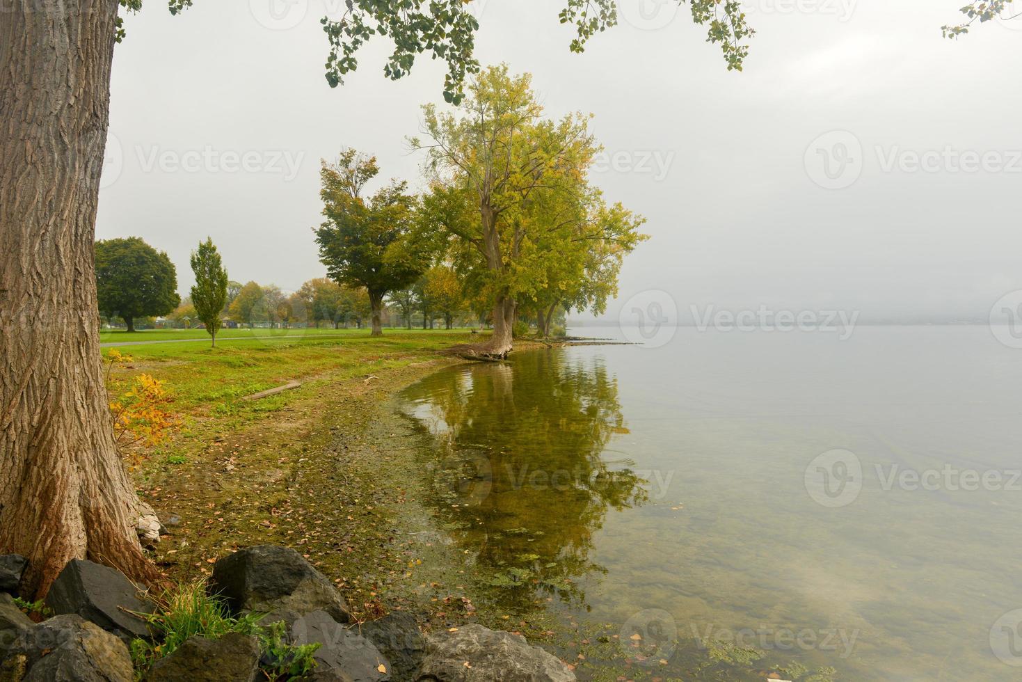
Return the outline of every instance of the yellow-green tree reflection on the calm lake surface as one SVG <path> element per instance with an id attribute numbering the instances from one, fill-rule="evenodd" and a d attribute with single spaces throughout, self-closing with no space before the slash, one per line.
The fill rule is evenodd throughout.
<path id="1" fill-rule="evenodd" d="M 626 434 L 617 384 L 598 361 L 557 351 L 453 367 L 405 392 L 432 438 L 420 457 L 437 515 L 477 557 L 502 605 L 555 594 L 585 606 L 577 580 L 608 509 L 646 499 L 628 460 L 604 458 Z"/>

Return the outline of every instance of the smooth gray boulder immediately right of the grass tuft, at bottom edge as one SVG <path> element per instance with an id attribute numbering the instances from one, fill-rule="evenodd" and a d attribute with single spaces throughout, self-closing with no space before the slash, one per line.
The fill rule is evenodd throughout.
<path id="1" fill-rule="evenodd" d="M 298 645 L 320 644 L 313 656 L 321 675 L 336 671 L 345 674 L 352 682 L 389 682 L 393 679 L 390 662 L 371 641 L 355 628 L 337 623 L 325 611 L 313 611 L 295 621 L 291 626 L 291 640 Z"/>

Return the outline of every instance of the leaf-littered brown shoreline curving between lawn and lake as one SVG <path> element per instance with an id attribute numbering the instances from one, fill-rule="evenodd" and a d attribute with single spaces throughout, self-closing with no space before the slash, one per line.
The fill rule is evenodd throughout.
<path id="1" fill-rule="evenodd" d="M 522 343 L 516 353 L 570 345 Z M 384 346 L 367 344 L 362 351 L 369 353 L 353 364 L 313 372 L 296 390 L 251 402 L 238 396 L 232 404 L 257 410 L 256 418 L 214 419 L 212 430 L 167 448 L 187 453 L 186 463 L 141 467 L 140 494 L 170 531 L 151 552 L 157 565 L 172 579 L 193 581 L 236 549 L 283 545 L 333 582 L 359 620 L 407 611 L 426 632 L 478 623 L 522 634 L 579 679 L 656 677 L 659 666 L 636 667 L 620 624 L 595 622 L 530 592 L 509 600 L 490 584 L 475 548 L 459 545 L 458 528 L 437 513 L 443 505 L 428 474 L 433 437 L 399 409 L 408 387 L 472 361 L 443 348 L 388 353 Z M 705 651 L 686 646 L 679 653 L 689 671 L 707 665 Z M 729 653 L 715 652 L 723 660 L 713 661 L 727 662 L 731 679 L 745 679 Z"/>

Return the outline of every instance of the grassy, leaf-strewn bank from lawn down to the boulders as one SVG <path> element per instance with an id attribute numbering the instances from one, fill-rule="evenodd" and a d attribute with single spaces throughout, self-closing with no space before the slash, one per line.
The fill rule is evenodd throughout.
<path id="1" fill-rule="evenodd" d="M 166 332 L 132 336 L 158 333 Z M 411 536 L 394 534 L 397 516 L 413 513 L 405 526 L 426 522 L 428 514 L 408 504 L 422 471 L 410 463 L 411 434 L 389 401 L 459 362 L 439 351 L 479 338 L 442 330 L 384 330 L 373 338 L 362 330 L 216 349 L 201 338 L 104 349 L 104 357 L 113 350 L 131 357 L 110 373 L 112 395 L 150 374 L 165 382 L 181 419 L 169 441 L 126 453 L 142 497 L 165 522 L 180 519 L 154 560 L 172 578 L 192 580 L 238 547 L 274 543 L 303 552 L 360 613 L 383 601 L 450 596 L 449 586 L 464 580 L 461 566 L 433 557 L 413 572 L 409 561 L 442 548 L 412 548 Z M 243 400 L 294 379 L 298 389 Z M 428 596 L 416 594 L 423 580 L 436 585 Z"/>

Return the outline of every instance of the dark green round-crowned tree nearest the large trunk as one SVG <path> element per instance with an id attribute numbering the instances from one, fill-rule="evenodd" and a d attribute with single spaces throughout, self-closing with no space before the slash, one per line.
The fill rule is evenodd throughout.
<path id="1" fill-rule="evenodd" d="M 164 252 L 140 237 L 96 242 L 96 298 L 100 312 L 135 331 L 135 318 L 167 315 L 181 303 L 178 271 Z"/>

